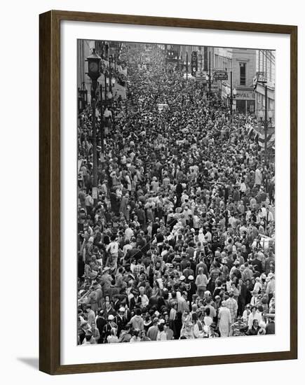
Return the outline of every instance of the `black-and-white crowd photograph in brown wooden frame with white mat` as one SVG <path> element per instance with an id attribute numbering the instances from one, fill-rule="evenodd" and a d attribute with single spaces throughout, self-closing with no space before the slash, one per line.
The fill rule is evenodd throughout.
<path id="1" fill-rule="evenodd" d="M 297 358 L 297 27 L 39 25 L 40 370 Z"/>

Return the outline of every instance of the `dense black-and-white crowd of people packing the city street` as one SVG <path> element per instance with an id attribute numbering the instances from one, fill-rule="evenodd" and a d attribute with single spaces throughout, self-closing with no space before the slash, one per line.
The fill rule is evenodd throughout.
<path id="1" fill-rule="evenodd" d="M 274 164 L 248 116 L 143 50 L 123 47 L 128 98 L 97 118 L 95 200 L 79 119 L 78 344 L 274 334 Z"/>

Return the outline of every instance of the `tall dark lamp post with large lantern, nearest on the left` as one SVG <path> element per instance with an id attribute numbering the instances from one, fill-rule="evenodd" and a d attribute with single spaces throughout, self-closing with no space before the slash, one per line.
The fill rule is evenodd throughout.
<path id="1" fill-rule="evenodd" d="M 96 108 L 96 90 L 97 79 L 100 78 L 100 62 L 101 57 L 95 52 L 87 57 L 88 62 L 88 76 L 92 81 L 91 89 L 91 107 L 92 107 L 92 130 L 93 130 L 93 188 L 92 197 L 94 204 L 97 204 L 97 144 L 96 144 L 96 125 L 95 125 L 95 108 Z"/>

